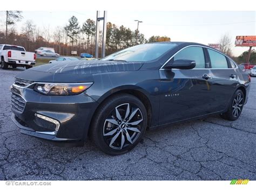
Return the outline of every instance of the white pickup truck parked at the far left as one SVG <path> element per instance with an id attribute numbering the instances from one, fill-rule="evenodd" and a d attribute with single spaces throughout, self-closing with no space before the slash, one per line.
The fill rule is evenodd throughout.
<path id="1" fill-rule="evenodd" d="M 36 64 L 36 54 L 26 52 L 22 46 L 0 45 L 0 56 L 2 69 L 7 69 L 8 66 L 12 68 L 21 66 L 29 69 Z"/>

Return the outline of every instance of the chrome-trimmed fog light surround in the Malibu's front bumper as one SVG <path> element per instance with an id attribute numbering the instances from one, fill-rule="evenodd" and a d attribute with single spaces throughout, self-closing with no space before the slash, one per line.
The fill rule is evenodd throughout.
<path id="1" fill-rule="evenodd" d="M 59 122 L 56 119 L 46 117 L 40 114 L 35 114 L 37 117 L 35 123 L 42 128 L 48 129 L 48 131 L 37 131 L 38 133 L 44 133 L 49 135 L 56 135 L 59 130 Z"/>

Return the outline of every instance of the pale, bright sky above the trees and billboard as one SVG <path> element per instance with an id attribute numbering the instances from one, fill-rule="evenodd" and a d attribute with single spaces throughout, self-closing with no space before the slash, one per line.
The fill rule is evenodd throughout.
<path id="1" fill-rule="evenodd" d="M 103 11 L 101 12 L 103 14 Z M 16 28 L 21 31 L 26 20 L 32 20 L 39 28 L 65 26 L 71 16 L 82 25 L 87 18 L 96 20 L 96 10 L 85 11 L 23 11 L 23 20 Z M 228 34 L 233 42 L 235 36 L 256 35 L 256 11 L 107 11 L 107 22 L 137 29 L 134 20 L 141 20 L 139 31 L 146 38 L 168 36 L 171 41 L 191 41 L 208 44 L 218 43 Z M 4 29 L 4 12 L 0 12 L 0 26 Z M 232 47 L 235 56 L 248 47 Z"/>

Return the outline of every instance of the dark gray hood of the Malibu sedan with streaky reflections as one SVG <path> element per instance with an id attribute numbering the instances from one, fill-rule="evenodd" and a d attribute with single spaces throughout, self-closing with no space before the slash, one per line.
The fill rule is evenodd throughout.
<path id="1" fill-rule="evenodd" d="M 107 72 L 135 71 L 142 62 L 119 62 L 106 60 L 61 61 L 33 67 L 30 70 L 60 74 L 97 74 Z"/>

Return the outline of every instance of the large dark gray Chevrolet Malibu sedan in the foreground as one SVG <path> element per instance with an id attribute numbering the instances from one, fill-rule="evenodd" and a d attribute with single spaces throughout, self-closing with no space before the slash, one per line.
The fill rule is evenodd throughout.
<path id="1" fill-rule="evenodd" d="M 11 119 L 22 133 L 73 144 L 90 135 L 115 155 L 130 151 L 148 128 L 211 114 L 238 119 L 250 76 L 214 48 L 166 42 L 38 66 L 18 73 L 10 90 Z"/>

